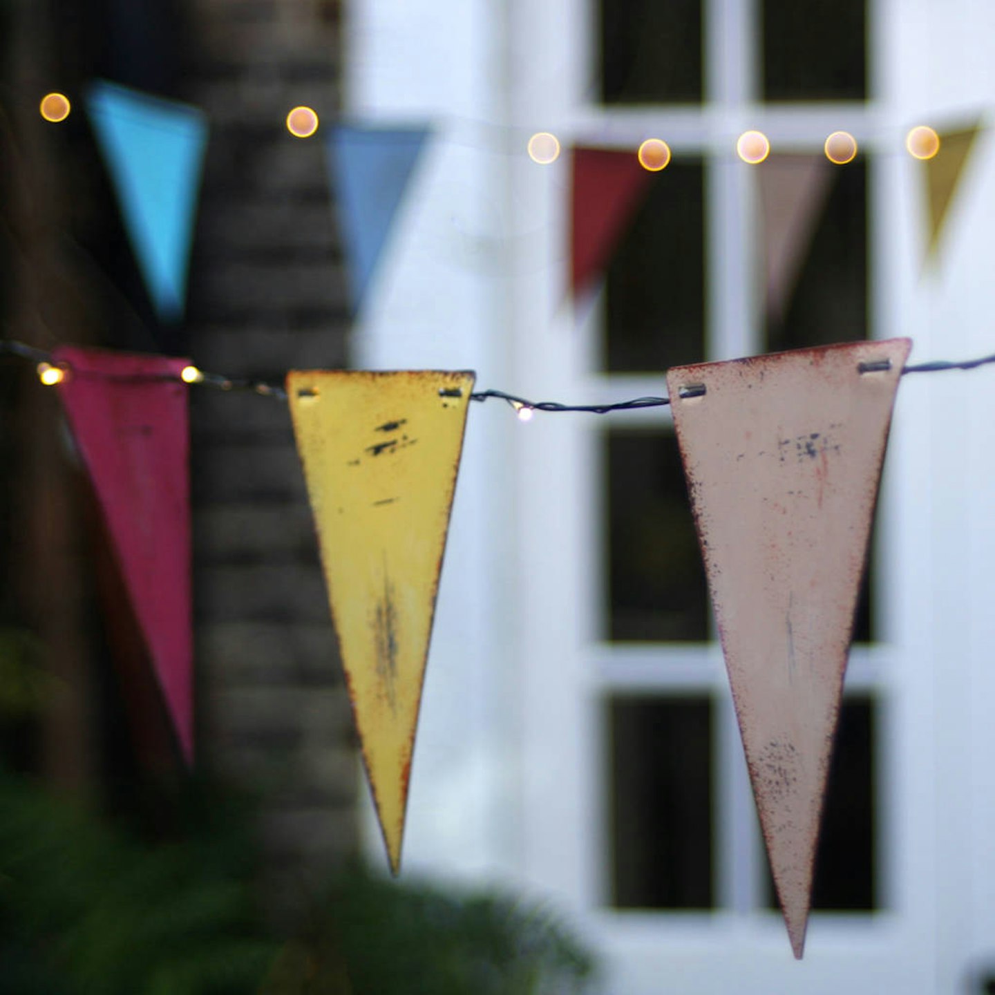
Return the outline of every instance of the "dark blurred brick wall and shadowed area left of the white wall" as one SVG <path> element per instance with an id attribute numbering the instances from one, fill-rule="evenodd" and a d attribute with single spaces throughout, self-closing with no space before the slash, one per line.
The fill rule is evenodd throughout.
<path id="1" fill-rule="evenodd" d="M 324 158 L 284 126 L 294 102 L 336 114 L 338 5 L 55 0 L 5 14 L 5 335 L 195 355 L 277 381 L 295 366 L 344 365 Z M 84 112 L 96 79 L 206 115 L 185 320 L 157 318 L 137 268 Z M 38 113 L 49 91 L 74 100 L 62 124 Z M 5 376 L 6 612 L 72 689 L 17 749 L 85 794 L 127 796 L 140 771 L 172 776 L 170 732 L 85 475 L 61 445 L 57 398 L 39 394 L 31 370 Z M 195 393 L 200 762 L 263 796 L 273 887 L 293 891 L 302 872 L 355 853 L 348 700 L 286 405 Z"/>

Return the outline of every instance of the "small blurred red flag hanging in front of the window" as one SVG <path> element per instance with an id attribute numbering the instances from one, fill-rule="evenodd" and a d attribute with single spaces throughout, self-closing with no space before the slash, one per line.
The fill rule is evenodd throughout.
<path id="1" fill-rule="evenodd" d="M 630 151 L 573 150 L 570 286 L 581 294 L 601 276 L 656 173 Z"/>

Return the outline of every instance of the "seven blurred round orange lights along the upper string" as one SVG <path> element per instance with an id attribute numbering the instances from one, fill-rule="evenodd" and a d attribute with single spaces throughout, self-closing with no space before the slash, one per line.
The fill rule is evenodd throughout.
<path id="1" fill-rule="evenodd" d="M 59 124 L 69 117 L 73 104 L 65 94 L 51 93 L 42 98 L 39 110 L 45 120 Z M 317 111 L 303 104 L 292 107 L 285 122 L 287 130 L 296 138 L 312 137 L 320 125 Z M 917 124 L 905 135 L 905 150 L 914 159 L 932 159 L 939 149 L 939 134 L 928 124 Z M 536 131 L 525 143 L 528 157 L 542 166 L 555 162 L 561 150 L 559 138 L 551 131 Z M 826 158 L 838 166 L 853 162 L 858 150 L 857 139 L 849 131 L 833 131 L 823 145 Z M 762 131 L 743 131 L 736 139 L 735 152 L 748 165 L 759 165 L 771 153 L 770 139 Z M 663 138 L 651 137 L 640 144 L 636 158 L 644 169 L 657 173 L 670 165 L 673 155 L 670 145 Z"/>

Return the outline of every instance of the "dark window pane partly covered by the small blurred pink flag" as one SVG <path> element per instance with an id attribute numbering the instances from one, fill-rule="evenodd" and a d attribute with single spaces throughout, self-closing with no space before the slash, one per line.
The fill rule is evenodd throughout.
<path id="1" fill-rule="evenodd" d="M 832 184 L 784 318 L 767 315 L 768 351 L 868 337 L 865 163 L 833 167 Z"/>

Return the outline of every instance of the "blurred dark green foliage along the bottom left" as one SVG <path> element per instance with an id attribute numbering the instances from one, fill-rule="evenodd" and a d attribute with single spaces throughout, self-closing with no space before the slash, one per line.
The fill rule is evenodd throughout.
<path id="1" fill-rule="evenodd" d="M 563 995 L 591 974 L 541 910 L 359 870 L 277 936 L 244 813 L 192 798 L 153 843 L 0 770 L 0 995 Z"/>

